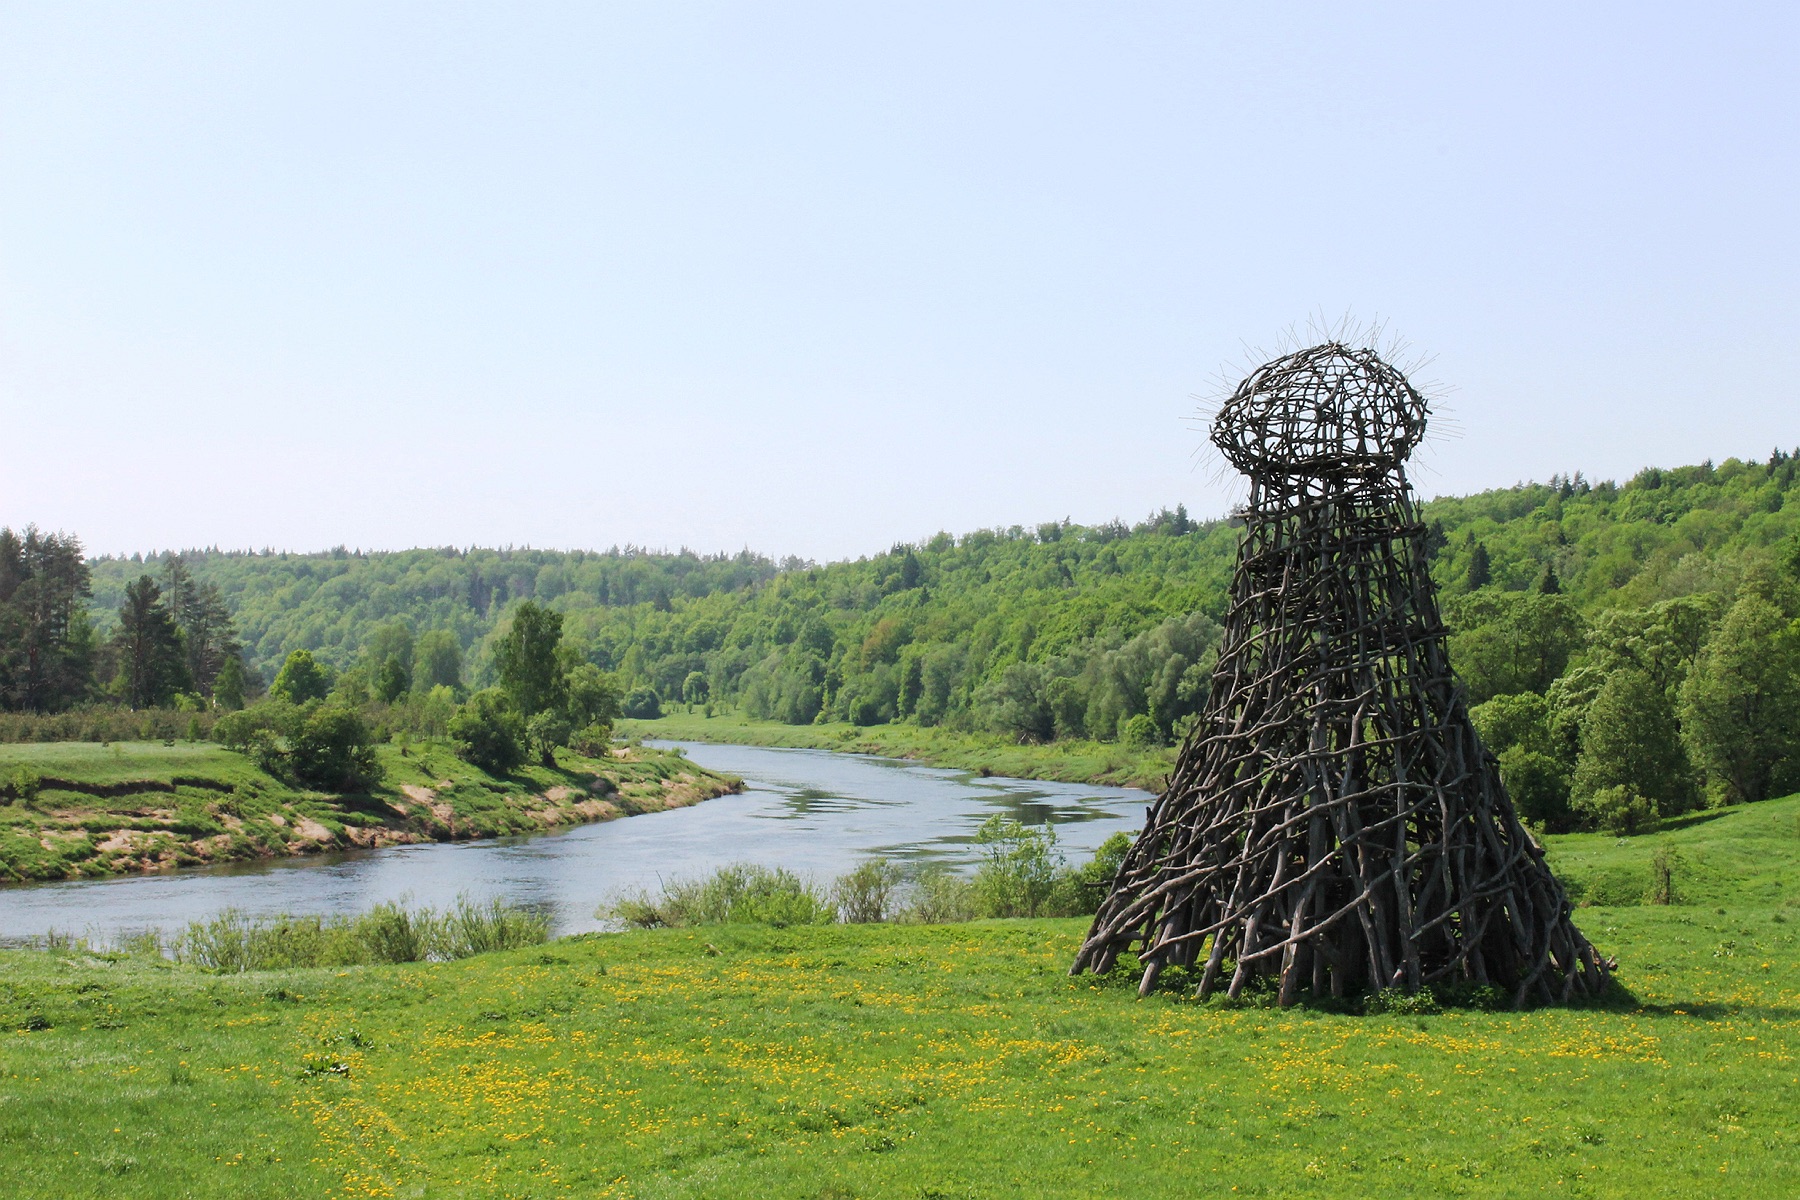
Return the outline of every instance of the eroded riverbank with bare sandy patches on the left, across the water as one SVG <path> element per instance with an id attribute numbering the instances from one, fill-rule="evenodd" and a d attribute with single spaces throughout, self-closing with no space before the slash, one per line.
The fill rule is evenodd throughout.
<path id="1" fill-rule="evenodd" d="M 382 745 L 362 795 L 297 790 L 212 743 L 0 745 L 0 880 L 72 880 L 218 862 L 542 833 L 740 790 L 679 752 L 628 747 L 490 775 L 448 743 Z"/>

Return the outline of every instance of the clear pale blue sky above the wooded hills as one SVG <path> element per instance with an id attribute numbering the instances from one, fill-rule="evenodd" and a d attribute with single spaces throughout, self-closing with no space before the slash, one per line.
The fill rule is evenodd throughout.
<path id="1" fill-rule="evenodd" d="M 1217 515 L 1192 396 L 1345 311 L 1454 385 L 1426 495 L 1762 457 L 1796 63 L 1791 4 L 0 4 L 0 524 Z"/>

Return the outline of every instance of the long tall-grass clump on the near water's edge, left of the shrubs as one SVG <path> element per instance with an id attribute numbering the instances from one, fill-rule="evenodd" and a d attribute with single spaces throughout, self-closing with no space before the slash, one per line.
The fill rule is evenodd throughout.
<path id="1" fill-rule="evenodd" d="M 459 896 L 445 912 L 380 903 L 355 916 L 250 916 L 227 909 L 169 943 L 176 963 L 214 972 L 466 959 L 549 941 L 549 918 L 502 900 Z"/>

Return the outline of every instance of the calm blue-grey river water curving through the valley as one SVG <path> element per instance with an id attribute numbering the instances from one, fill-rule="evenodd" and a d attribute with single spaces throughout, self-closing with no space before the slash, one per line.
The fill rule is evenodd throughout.
<path id="1" fill-rule="evenodd" d="M 459 892 L 549 912 L 556 934 L 578 934 L 601 928 L 594 910 L 619 892 L 731 862 L 819 882 L 869 855 L 968 869 L 979 856 L 976 828 L 994 813 L 1053 824 L 1058 847 L 1080 862 L 1112 833 L 1138 829 L 1152 799 L 1134 788 L 983 779 L 830 750 L 655 745 L 679 745 L 700 766 L 740 775 L 743 793 L 533 837 L 0 887 L 0 943 L 52 930 L 101 941 L 173 932 L 223 909 L 337 914 L 405 898 L 445 907 Z"/>

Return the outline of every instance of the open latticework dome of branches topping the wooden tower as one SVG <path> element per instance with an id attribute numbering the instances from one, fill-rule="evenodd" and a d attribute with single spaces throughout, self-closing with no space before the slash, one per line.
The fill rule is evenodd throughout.
<path id="1" fill-rule="evenodd" d="M 1213 444 L 1246 475 L 1370 475 L 1426 432 L 1426 398 L 1372 349 L 1325 342 L 1253 371 L 1213 417 Z"/>

